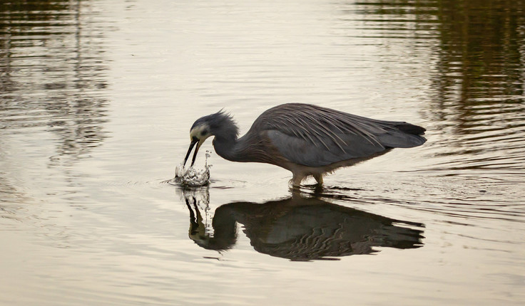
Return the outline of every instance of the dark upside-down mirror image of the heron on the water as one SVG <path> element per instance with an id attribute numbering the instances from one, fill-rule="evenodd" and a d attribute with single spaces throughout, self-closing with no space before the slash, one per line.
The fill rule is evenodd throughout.
<path id="1" fill-rule="evenodd" d="M 190 238 L 212 250 L 233 247 L 237 223 L 253 248 L 291 260 L 331 259 L 369 254 L 373 247 L 419 248 L 423 224 L 394 220 L 317 198 L 293 196 L 265 204 L 237 202 L 215 210 L 213 235 L 203 224 L 198 206 L 186 199 L 190 209 Z"/>

